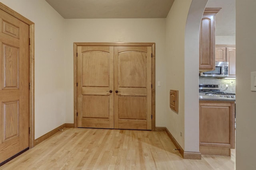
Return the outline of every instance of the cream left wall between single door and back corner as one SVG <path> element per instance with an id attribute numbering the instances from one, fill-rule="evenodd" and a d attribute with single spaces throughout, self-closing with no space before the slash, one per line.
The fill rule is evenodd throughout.
<path id="1" fill-rule="evenodd" d="M 0 0 L 35 23 L 35 138 L 65 123 L 64 19 L 45 0 Z"/>

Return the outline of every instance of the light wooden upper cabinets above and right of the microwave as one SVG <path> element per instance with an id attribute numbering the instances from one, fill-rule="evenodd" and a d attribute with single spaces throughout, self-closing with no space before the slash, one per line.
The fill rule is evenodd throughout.
<path id="1" fill-rule="evenodd" d="M 236 45 L 216 45 L 215 61 L 227 61 L 228 77 L 236 77 Z"/>

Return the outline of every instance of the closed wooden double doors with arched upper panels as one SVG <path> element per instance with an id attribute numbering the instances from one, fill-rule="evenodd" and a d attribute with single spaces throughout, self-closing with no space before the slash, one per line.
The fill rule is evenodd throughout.
<path id="1" fill-rule="evenodd" d="M 151 46 L 77 47 L 78 127 L 148 129 Z"/>

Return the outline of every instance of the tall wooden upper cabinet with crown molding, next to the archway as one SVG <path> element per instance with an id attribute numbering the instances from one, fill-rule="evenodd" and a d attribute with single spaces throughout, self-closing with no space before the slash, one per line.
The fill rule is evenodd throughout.
<path id="1" fill-rule="evenodd" d="M 215 15 L 221 8 L 205 8 L 199 35 L 199 71 L 215 68 Z"/>

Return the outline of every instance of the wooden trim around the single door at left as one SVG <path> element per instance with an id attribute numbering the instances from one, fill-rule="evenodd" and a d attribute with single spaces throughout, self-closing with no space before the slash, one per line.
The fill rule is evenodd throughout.
<path id="1" fill-rule="evenodd" d="M 8 6 L 4 5 L 0 2 L 0 10 L 10 14 L 11 16 L 17 18 L 18 20 L 26 23 L 29 25 L 29 38 L 30 38 L 30 45 L 29 45 L 29 83 L 30 83 L 30 90 L 29 90 L 29 127 L 30 127 L 30 134 L 29 134 L 29 148 L 34 147 L 34 138 L 35 138 L 35 121 L 34 121 L 34 84 L 35 84 L 35 24 L 34 22 L 28 20 L 24 16 L 20 15 L 18 12 L 15 12 Z M 29 130 L 28 130 L 29 131 Z"/>

